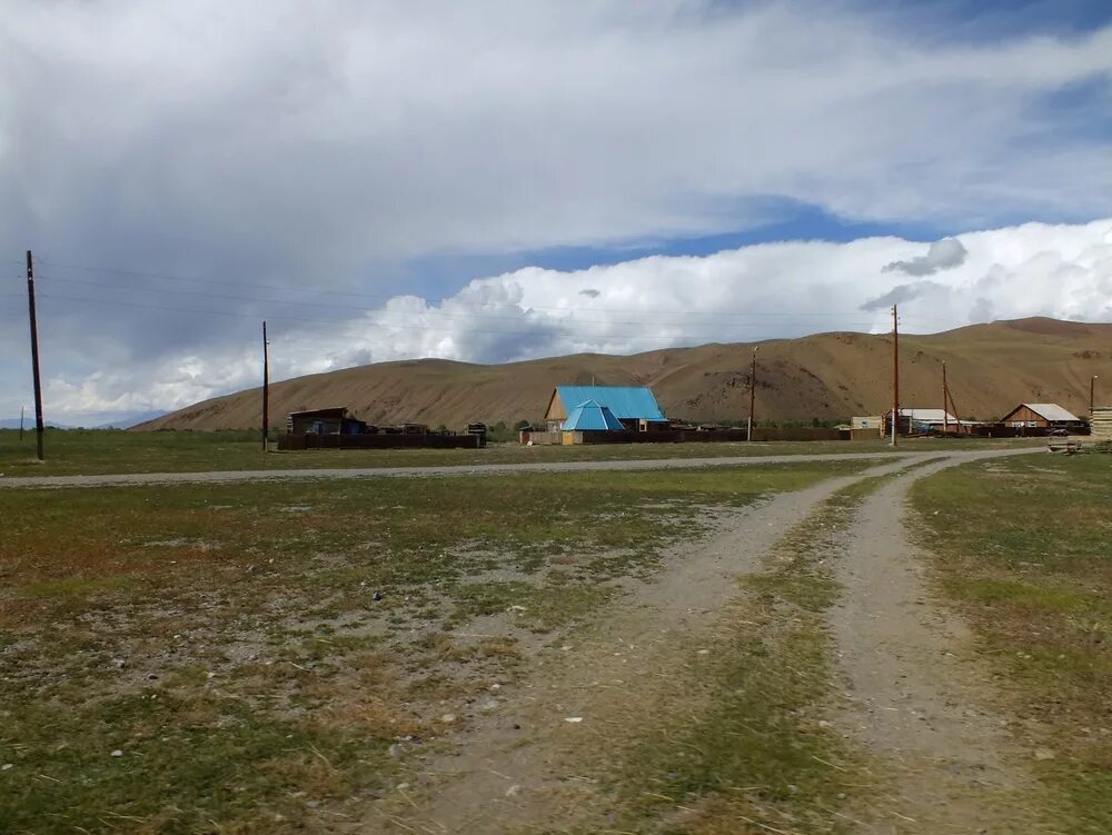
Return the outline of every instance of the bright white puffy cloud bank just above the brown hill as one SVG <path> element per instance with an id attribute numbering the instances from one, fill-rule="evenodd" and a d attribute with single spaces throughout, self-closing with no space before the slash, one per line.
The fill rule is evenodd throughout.
<path id="1" fill-rule="evenodd" d="M 917 281 L 886 268 L 929 257 L 932 245 L 891 237 L 763 243 L 576 271 L 520 269 L 437 301 L 401 296 L 327 327 L 275 328 L 275 376 L 414 357 L 503 361 L 886 331 L 886 304 L 870 304 L 885 297 L 901 304 L 902 327 L 913 332 L 1026 316 L 1112 319 L 1112 219 L 1025 223 L 954 240 L 961 261 Z M 54 379 L 49 392 L 61 414 L 186 406 L 259 385 L 259 355 L 255 346 L 193 351 L 126 374 Z"/>

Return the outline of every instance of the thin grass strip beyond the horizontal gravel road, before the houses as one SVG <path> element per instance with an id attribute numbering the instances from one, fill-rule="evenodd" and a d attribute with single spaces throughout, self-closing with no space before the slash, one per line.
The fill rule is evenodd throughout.
<path id="1" fill-rule="evenodd" d="M 999 448 L 1023 440 L 906 439 L 897 451 Z M 631 444 L 575 447 L 524 447 L 495 444 L 485 449 L 364 449 L 306 453 L 261 451 L 258 435 L 222 433 L 127 433 L 61 430 L 46 433 L 46 461 L 34 459 L 34 434 L 19 440 L 16 430 L 0 430 L 0 478 L 11 476 L 178 473 L 316 467 L 407 467 L 539 461 L 708 458 L 718 456 L 810 455 L 816 453 L 890 451 L 875 441 L 777 441 L 729 444 Z"/>

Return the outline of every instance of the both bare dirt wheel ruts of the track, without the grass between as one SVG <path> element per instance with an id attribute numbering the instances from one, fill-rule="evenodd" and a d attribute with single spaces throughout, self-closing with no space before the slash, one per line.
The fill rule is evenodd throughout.
<path id="1" fill-rule="evenodd" d="M 831 613 L 847 705 L 837 723 L 884 786 L 875 805 L 852 809 L 856 831 L 1011 832 L 1026 817 L 1009 805 L 1026 778 L 991 712 L 987 677 L 961 623 L 930 599 L 901 518 L 914 479 L 1023 451 L 1032 450 L 946 455 L 861 508 L 841 557 L 845 592 Z M 454 753 L 414 766 L 403 796 L 376 807 L 377 825 L 460 834 L 606 828 L 613 798 L 582 777 L 584 757 L 652 723 L 662 704 L 682 704 L 677 670 L 713 638 L 736 578 L 759 570 L 781 535 L 840 488 L 925 458 L 940 456 L 901 457 L 777 496 L 741 511 L 709 540 L 677 549 L 652 583 L 631 585 L 574 645 L 539 649 L 529 673 L 471 717 Z"/>

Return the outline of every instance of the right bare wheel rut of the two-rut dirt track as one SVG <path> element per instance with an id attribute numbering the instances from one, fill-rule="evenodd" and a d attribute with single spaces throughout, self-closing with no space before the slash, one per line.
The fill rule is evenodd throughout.
<path id="1" fill-rule="evenodd" d="M 847 692 L 840 724 L 874 756 L 881 794 L 854 809 L 862 833 L 1040 832 L 1033 781 L 992 676 L 962 618 L 932 598 L 909 541 L 909 487 L 965 460 L 898 476 L 868 496 L 837 561 L 831 627 Z M 1027 754 L 1030 756 L 1030 754 Z"/>

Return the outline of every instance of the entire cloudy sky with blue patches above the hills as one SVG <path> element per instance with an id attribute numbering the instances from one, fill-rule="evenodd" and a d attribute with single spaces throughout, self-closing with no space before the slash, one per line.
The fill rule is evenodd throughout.
<path id="1" fill-rule="evenodd" d="M 0 418 L 1112 320 L 1104 0 L 9 0 Z"/>

